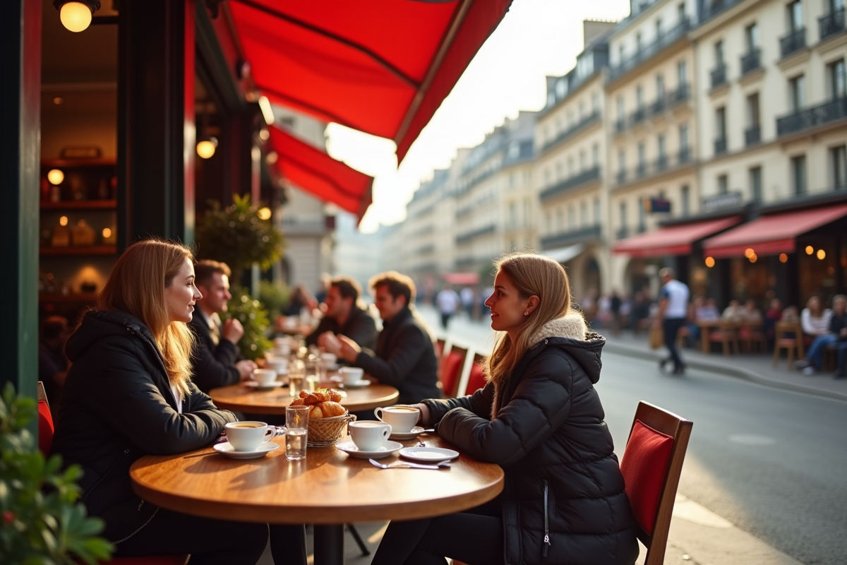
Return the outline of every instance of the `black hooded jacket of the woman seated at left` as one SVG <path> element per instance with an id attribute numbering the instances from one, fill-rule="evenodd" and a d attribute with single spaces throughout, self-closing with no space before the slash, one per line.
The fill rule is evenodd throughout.
<path id="1" fill-rule="evenodd" d="M 158 507 L 130 485 L 130 465 L 144 455 L 169 455 L 211 444 L 235 421 L 190 385 L 182 413 L 150 330 L 128 313 L 86 313 L 65 351 L 73 363 L 56 418 L 53 453 L 79 464 L 82 501 L 106 521 L 103 535 L 119 543 L 143 528 Z"/>

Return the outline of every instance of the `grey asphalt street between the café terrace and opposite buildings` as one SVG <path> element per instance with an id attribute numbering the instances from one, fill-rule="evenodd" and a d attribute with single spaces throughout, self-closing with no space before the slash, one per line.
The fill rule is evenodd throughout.
<path id="1" fill-rule="evenodd" d="M 447 334 L 490 347 L 485 324 L 456 319 Z M 847 404 L 613 354 L 597 390 L 619 454 L 639 400 L 679 413 L 695 423 L 681 494 L 800 562 L 847 563 Z"/>

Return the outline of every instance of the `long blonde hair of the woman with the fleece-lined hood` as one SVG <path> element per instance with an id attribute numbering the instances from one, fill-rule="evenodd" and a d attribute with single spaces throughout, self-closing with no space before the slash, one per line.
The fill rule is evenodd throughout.
<path id="1" fill-rule="evenodd" d="M 514 342 L 506 332 L 501 332 L 494 352 L 486 359 L 485 378 L 499 385 L 533 345 L 529 343 L 531 336 L 547 322 L 570 312 L 571 286 L 564 267 L 538 253 L 509 253 L 495 261 L 495 267 L 498 274 L 506 274 L 512 280 L 523 300 L 538 296 L 538 307 L 526 317 Z"/>

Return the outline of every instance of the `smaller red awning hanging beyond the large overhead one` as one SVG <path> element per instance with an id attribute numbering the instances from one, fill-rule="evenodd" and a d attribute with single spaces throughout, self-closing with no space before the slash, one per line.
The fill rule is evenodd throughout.
<path id="1" fill-rule="evenodd" d="M 276 166 L 285 179 L 361 221 L 371 203 L 372 177 L 275 127 L 270 129 L 270 147 L 279 155 Z"/>

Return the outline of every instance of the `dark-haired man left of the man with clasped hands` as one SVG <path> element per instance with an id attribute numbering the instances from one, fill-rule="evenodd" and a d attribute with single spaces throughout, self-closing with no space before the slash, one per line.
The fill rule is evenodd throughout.
<path id="1" fill-rule="evenodd" d="M 326 347 L 329 335 L 346 335 L 359 347 L 370 350 L 376 345 L 376 322 L 359 301 L 362 287 L 350 277 L 329 280 L 324 303 L 324 318 L 315 330 L 307 335 L 306 345 Z"/>

